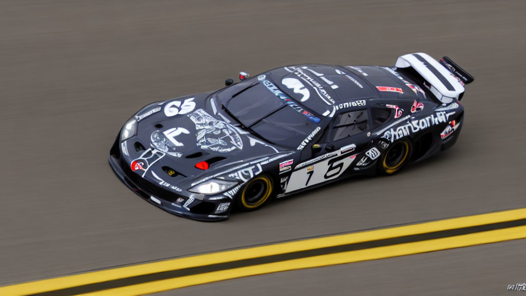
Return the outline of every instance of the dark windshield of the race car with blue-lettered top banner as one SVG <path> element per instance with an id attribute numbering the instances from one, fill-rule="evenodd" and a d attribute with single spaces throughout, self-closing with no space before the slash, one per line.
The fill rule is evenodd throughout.
<path id="1" fill-rule="evenodd" d="M 307 111 L 268 80 L 245 84 L 226 100 L 220 96 L 222 109 L 246 130 L 291 149 L 298 147 L 321 121 L 321 116 Z"/>

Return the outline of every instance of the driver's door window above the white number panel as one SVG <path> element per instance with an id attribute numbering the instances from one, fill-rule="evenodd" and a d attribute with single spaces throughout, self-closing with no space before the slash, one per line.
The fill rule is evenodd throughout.
<path id="1" fill-rule="evenodd" d="M 332 142 L 346 139 L 370 129 L 367 110 L 339 114 L 332 126 Z"/>

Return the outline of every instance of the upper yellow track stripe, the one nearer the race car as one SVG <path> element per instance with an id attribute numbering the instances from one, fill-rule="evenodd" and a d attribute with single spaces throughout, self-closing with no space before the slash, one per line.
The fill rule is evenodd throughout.
<path id="1" fill-rule="evenodd" d="M 461 218 L 407 226 L 399 226 L 388 229 L 334 235 L 325 238 L 300 240 L 294 242 L 257 246 L 254 248 L 209 253 L 203 255 L 189 256 L 186 258 L 170 259 L 153 263 L 138 264 L 129 267 L 114 268 L 83 274 L 68 275 L 60 278 L 9 285 L 6 287 L 0 287 L 0 295 L 22 296 L 53 290 L 66 289 L 71 287 L 78 287 L 80 285 L 86 284 L 136 277 L 138 275 L 157 273 L 169 270 L 199 267 L 209 264 L 224 263 L 230 261 L 258 258 L 262 256 L 298 252 L 318 248 L 326 248 L 329 246 L 344 245 L 350 243 L 395 238 L 398 236 L 412 234 L 466 228 L 470 226 L 519 220 L 524 218 L 526 218 L 526 208 L 489 214 L 466 216 Z"/>

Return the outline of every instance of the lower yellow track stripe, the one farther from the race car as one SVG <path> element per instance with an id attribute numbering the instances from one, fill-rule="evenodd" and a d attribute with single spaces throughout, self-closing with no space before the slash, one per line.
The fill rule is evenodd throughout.
<path id="1" fill-rule="evenodd" d="M 449 238 L 434 239 L 413 243 L 403 243 L 390 246 L 381 246 L 372 249 L 333 253 L 302 259 L 252 265 L 249 267 L 235 268 L 230 270 L 188 275 L 186 277 L 160 280 L 143 284 L 129 285 L 127 287 L 122 288 L 79 294 L 77 296 L 144 295 L 149 293 L 156 293 L 161 291 L 189 287 L 192 285 L 249 277 L 251 275 L 323 267 L 328 265 L 359 262 L 366 260 L 376 260 L 395 256 L 461 248 L 470 245 L 494 243 L 523 238 L 526 238 L 526 226 L 517 226 L 508 229 L 491 230 L 479 233 L 451 236 Z"/>

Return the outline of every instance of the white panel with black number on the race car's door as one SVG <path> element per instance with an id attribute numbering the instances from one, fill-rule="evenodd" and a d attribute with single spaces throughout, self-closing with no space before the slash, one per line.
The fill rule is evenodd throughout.
<path id="1" fill-rule="evenodd" d="M 339 177 L 355 160 L 356 154 L 342 150 L 323 154 L 310 161 L 300 163 L 290 175 L 286 193 L 323 183 Z M 345 150 L 343 150 L 345 151 Z M 299 168 L 298 168 L 299 167 Z"/>

